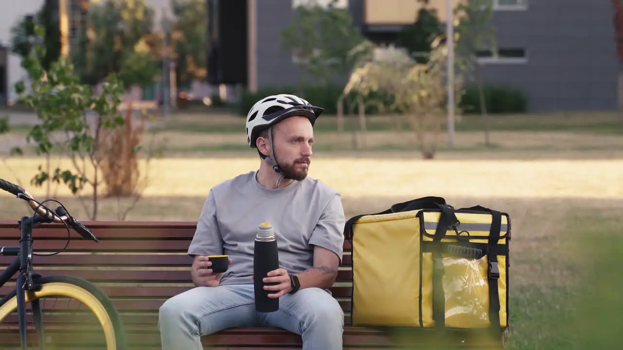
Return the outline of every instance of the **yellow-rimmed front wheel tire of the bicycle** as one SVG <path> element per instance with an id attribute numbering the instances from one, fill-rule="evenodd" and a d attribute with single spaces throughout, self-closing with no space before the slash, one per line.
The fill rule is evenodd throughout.
<path id="1" fill-rule="evenodd" d="M 81 301 L 97 317 L 107 343 L 107 350 L 125 350 L 126 341 L 120 316 L 112 301 L 93 283 L 73 276 L 48 276 L 36 280 L 41 288 L 27 291 L 26 303 L 49 296 L 66 296 Z M 17 310 L 16 291 L 7 295 L 0 305 L 0 324 Z M 45 329 L 45 319 L 44 319 Z"/>

